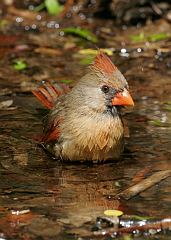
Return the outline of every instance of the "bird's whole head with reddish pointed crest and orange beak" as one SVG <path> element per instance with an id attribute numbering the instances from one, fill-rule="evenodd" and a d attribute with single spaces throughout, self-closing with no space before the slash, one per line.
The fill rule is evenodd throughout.
<path id="1" fill-rule="evenodd" d="M 101 51 L 76 89 L 82 103 L 96 112 L 117 113 L 118 106 L 134 105 L 125 77 Z"/>

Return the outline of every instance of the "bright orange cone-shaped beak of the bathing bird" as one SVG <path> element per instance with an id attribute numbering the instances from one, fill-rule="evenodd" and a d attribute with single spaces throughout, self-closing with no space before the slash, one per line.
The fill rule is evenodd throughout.
<path id="1" fill-rule="evenodd" d="M 116 106 L 134 106 L 132 97 L 127 89 L 124 89 L 123 92 L 118 92 L 115 97 L 112 99 L 112 105 Z"/>

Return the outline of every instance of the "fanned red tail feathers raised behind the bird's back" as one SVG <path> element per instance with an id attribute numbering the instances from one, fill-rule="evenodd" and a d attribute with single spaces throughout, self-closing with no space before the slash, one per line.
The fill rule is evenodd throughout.
<path id="1" fill-rule="evenodd" d="M 69 87 L 65 84 L 54 86 L 49 82 L 33 90 L 32 93 L 37 97 L 43 106 L 52 109 L 57 98 L 69 91 Z"/>

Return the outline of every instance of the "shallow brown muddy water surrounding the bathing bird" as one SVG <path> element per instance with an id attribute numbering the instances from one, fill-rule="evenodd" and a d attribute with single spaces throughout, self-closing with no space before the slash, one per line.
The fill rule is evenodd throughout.
<path id="1" fill-rule="evenodd" d="M 146 177 L 171 169 L 169 41 L 148 47 L 132 44 L 127 36 L 142 29 L 118 28 L 115 37 L 99 43 L 115 48 L 112 60 L 129 82 L 135 108 L 124 117 L 129 134 L 120 161 L 75 165 L 53 159 L 36 144 L 44 113 L 30 91 L 47 79 L 71 79 L 74 85 L 87 68 L 78 55 L 82 47 L 55 29 L 26 32 L 23 26 L 10 24 L 0 45 L 0 238 L 78 239 L 111 208 L 140 216 L 171 215 L 170 178 L 128 201 L 113 198 L 136 183 L 141 173 Z M 146 31 L 159 27 L 168 31 L 170 25 L 159 22 Z M 23 59 L 28 67 L 15 70 L 15 59 Z M 159 237 L 169 239 L 169 235 Z"/>

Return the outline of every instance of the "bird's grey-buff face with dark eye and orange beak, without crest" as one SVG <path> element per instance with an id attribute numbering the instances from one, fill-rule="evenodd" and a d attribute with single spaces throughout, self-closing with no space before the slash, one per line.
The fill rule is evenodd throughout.
<path id="1" fill-rule="evenodd" d="M 128 83 L 119 70 L 112 74 L 92 71 L 81 81 L 82 104 L 98 113 L 117 114 L 121 106 L 133 106 Z"/>

